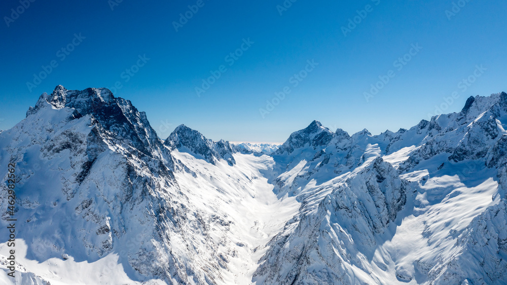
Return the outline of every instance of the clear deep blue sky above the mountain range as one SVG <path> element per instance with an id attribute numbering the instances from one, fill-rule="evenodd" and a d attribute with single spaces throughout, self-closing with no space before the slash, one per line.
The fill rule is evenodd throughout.
<path id="1" fill-rule="evenodd" d="M 0 129 L 58 84 L 110 88 L 162 138 L 268 142 L 312 120 L 396 131 L 507 91 L 505 1 L 292 1 L 3 0 Z"/>

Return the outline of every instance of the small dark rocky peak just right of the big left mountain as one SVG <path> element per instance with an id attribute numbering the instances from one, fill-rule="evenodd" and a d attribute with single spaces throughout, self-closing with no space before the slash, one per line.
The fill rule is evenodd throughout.
<path id="1" fill-rule="evenodd" d="M 199 158 L 215 165 L 220 159 L 234 165 L 236 161 L 232 156 L 234 150 L 229 141 L 220 140 L 213 142 L 207 139 L 200 132 L 185 125 L 180 125 L 167 137 L 164 144 L 173 149 L 190 152 Z"/>

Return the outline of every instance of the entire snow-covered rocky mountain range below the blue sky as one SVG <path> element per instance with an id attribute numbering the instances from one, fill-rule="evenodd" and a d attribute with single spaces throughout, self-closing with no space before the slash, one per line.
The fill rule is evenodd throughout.
<path id="1" fill-rule="evenodd" d="M 212 141 L 57 86 L 0 133 L 2 284 L 507 283 L 507 94 L 411 129 Z"/>

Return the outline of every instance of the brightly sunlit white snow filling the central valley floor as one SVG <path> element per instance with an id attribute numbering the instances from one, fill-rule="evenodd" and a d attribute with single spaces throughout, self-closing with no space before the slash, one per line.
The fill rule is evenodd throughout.
<path id="1" fill-rule="evenodd" d="M 197 178 L 185 172 L 175 173 L 193 205 L 233 222 L 226 234 L 234 243 L 220 248 L 224 254 L 231 247 L 237 253 L 229 261 L 228 270 L 223 270 L 224 284 L 249 284 L 267 250 L 265 245 L 296 215 L 300 203 L 295 197 L 278 199 L 273 193 L 273 185 L 261 173 L 273 167 L 270 156 L 234 154 L 236 165 L 229 166 L 222 160 L 214 166 L 185 152 L 176 150 L 173 155 L 199 173 Z M 220 239 L 224 233 L 215 234 Z"/>

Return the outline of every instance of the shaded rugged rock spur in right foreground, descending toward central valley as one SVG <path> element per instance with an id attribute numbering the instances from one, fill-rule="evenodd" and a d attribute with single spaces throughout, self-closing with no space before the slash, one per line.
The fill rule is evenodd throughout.
<path id="1" fill-rule="evenodd" d="M 264 284 L 354 284 L 371 270 L 378 235 L 407 200 L 407 183 L 381 158 L 338 186 L 297 227 L 270 242 L 254 280 Z M 287 227 L 286 227 L 287 228 Z"/>

